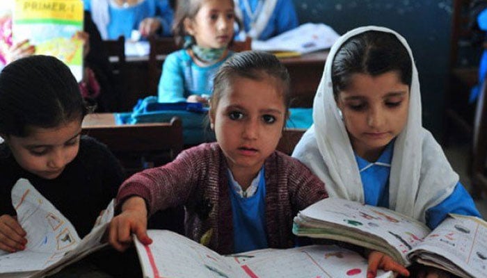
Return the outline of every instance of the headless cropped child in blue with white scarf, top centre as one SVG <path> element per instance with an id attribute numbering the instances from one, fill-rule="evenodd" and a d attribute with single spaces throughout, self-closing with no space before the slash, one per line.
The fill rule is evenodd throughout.
<path id="1" fill-rule="evenodd" d="M 239 40 L 267 40 L 299 25 L 292 0 L 234 0 L 237 17 L 244 24 Z"/>

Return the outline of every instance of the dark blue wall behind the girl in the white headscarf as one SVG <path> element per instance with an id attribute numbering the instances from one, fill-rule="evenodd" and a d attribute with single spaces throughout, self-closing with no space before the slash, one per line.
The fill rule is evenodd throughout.
<path id="1" fill-rule="evenodd" d="M 408 40 L 422 89 L 423 123 L 438 139 L 449 57 L 452 0 L 293 0 L 301 23 L 322 22 L 337 33 L 364 25 L 392 28 Z M 477 59 L 465 60 L 477 63 Z"/>

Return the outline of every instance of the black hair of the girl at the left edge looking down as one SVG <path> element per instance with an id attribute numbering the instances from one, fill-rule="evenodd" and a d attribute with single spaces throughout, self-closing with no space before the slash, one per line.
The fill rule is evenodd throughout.
<path id="1" fill-rule="evenodd" d="M 51 56 L 29 56 L 0 73 L 0 133 L 29 136 L 29 126 L 51 128 L 87 113 L 69 67 Z"/>

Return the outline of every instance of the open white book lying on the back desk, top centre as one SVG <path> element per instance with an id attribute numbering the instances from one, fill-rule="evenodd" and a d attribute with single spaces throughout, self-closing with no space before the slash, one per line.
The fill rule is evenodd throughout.
<path id="1" fill-rule="evenodd" d="M 293 51 L 306 54 L 330 48 L 340 38 L 328 25 L 306 23 L 269 40 L 253 40 L 252 50 Z"/>

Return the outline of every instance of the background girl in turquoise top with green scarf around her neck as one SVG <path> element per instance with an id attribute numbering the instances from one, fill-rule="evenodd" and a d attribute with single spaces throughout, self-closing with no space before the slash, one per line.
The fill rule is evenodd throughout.
<path id="1" fill-rule="evenodd" d="M 159 81 L 159 102 L 206 104 L 218 67 L 232 55 L 232 0 L 178 0 L 173 33 L 183 49 L 169 54 Z"/>

